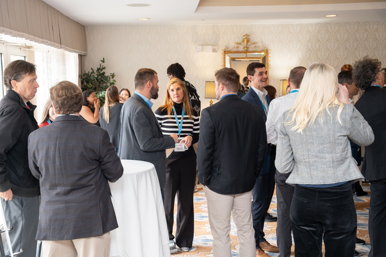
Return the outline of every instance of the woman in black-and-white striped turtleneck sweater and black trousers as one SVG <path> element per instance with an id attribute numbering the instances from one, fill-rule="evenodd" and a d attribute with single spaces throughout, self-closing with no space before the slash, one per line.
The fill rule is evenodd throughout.
<path id="1" fill-rule="evenodd" d="M 169 240 L 188 252 L 193 243 L 194 213 L 193 190 L 196 182 L 196 153 L 193 144 L 198 142 L 200 123 L 198 113 L 189 105 L 184 83 L 173 78 L 166 88 L 164 105 L 155 115 L 164 136 L 178 134 L 181 144 L 187 150 L 176 152 L 175 149 L 166 159 L 165 214 L 168 223 Z M 173 236 L 174 198 L 177 193 L 177 230 L 176 241 Z M 175 249 L 175 252 L 176 249 Z"/>

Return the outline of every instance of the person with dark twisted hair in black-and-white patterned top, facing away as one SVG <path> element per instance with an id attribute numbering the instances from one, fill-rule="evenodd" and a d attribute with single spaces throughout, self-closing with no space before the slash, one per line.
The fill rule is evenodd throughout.
<path id="1" fill-rule="evenodd" d="M 188 94 L 189 104 L 197 111 L 198 116 L 200 116 L 200 111 L 201 111 L 200 96 L 198 96 L 196 88 L 193 85 L 191 85 L 189 81 L 185 80 L 185 69 L 181 66 L 181 64 L 173 63 L 168 67 L 166 72 L 168 73 L 169 79 L 178 78 L 184 83 L 186 92 Z"/>

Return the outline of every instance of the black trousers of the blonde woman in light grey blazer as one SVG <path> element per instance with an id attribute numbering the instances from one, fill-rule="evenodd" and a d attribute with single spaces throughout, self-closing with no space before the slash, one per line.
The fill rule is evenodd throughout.
<path id="1" fill-rule="evenodd" d="M 301 257 L 353 257 L 357 213 L 349 182 L 331 188 L 295 186 L 290 218 Z"/>

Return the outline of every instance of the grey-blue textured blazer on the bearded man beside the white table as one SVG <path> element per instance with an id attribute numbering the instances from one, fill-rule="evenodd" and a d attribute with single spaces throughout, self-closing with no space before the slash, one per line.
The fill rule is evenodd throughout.
<path id="1" fill-rule="evenodd" d="M 125 101 L 120 119 L 120 159 L 154 164 L 159 186 L 163 189 L 166 181 L 165 149 L 175 147 L 173 137 L 164 137 L 151 108 L 137 94 Z"/>

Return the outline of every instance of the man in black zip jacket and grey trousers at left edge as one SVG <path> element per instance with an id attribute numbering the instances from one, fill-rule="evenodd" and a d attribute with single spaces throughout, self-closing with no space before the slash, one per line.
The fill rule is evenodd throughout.
<path id="1" fill-rule="evenodd" d="M 0 101 L 0 197 L 10 230 L 10 243 L 20 257 L 36 255 L 36 231 L 39 222 L 39 179 L 28 166 L 28 136 L 38 129 L 34 118 L 35 97 L 39 85 L 36 67 L 24 60 L 13 61 L 4 70 L 7 95 Z M 9 255 L 7 243 L 5 254 Z"/>

